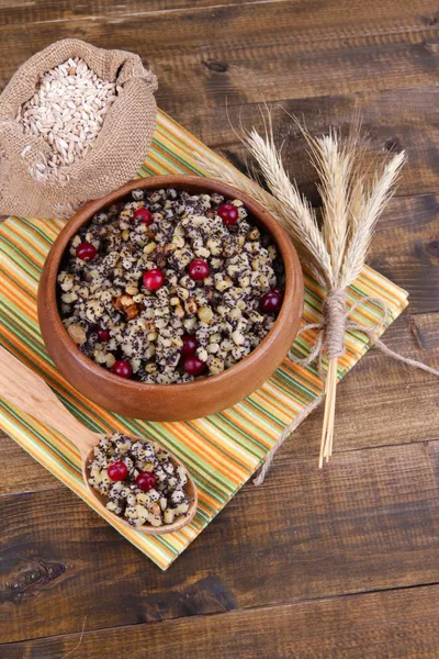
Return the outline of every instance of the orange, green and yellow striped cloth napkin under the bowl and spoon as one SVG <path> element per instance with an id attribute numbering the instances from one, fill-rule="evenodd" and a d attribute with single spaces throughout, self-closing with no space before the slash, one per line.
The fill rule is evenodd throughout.
<path id="1" fill-rule="evenodd" d="M 159 112 L 153 147 L 139 176 L 203 175 L 193 160 L 194 149 L 209 153 L 223 167 L 229 167 Z M 166 570 L 258 469 L 283 428 L 322 393 L 323 382 L 314 367 L 302 368 L 286 358 L 261 389 L 234 407 L 214 416 L 180 423 L 123 418 L 91 403 L 56 371 L 46 354 L 36 315 L 40 273 L 50 245 L 64 225 L 63 220 L 24 217 L 9 217 L 0 225 L 0 343 L 43 376 L 70 412 L 91 429 L 117 429 L 151 437 L 188 466 L 199 488 L 200 505 L 194 521 L 183 529 L 148 537 L 122 526 L 110 514 L 99 513 Z M 319 322 L 324 291 L 306 276 L 305 286 L 303 324 Z M 370 268 L 364 268 L 350 287 L 347 303 L 352 304 L 367 295 L 381 298 L 386 303 L 386 326 L 407 304 L 405 291 Z M 364 303 L 352 320 L 372 327 L 381 320 L 380 310 L 372 302 Z M 314 342 L 313 331 L 304 333 L 295 342 L 294 351 L 297 356 L 306 356 Z M 340 378 L 370 347 L 365 336 L 354 332 L 348 333 L 346 346 L 346 355 L 340 359 Z M 0 426 L 88 505 L 95 507 L 82 483 L 79 454 L 65 437 L 1 401 Z M 290 442 L 294 442 L 294 437 Z M 275 478 L 275 472 L 271 478 Z"/>

